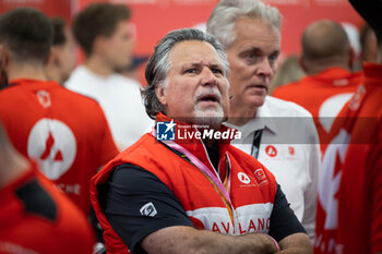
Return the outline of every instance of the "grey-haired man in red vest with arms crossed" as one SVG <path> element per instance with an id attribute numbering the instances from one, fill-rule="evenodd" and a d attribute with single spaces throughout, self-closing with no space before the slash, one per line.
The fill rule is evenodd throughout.
<path id="1" fill-rule="evenodd" d="M 274 176 L 229 144 L 228 74 L 199 29 L 158 43 L 143 92 L 156 128 L 92 179 L 108 253 L 311 253 Z"/>

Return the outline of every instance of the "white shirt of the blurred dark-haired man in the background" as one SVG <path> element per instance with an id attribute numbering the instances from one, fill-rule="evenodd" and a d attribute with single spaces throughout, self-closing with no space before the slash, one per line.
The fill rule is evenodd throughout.
<path id="1" fill-rule="evenodd" d="M 103 77 L 80 65 L 64 85 L 98 101 L 120 150 L 132 145 L 154 124 L 144 109 L 141 85 L 132 78 L 118 73 Z"/>

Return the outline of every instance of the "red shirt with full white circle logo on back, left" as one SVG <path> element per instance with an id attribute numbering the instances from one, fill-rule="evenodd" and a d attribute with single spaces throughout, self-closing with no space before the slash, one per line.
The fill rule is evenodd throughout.
<path id="1" fill-rule="evenodd" d="M 118 154 L 98 104 L 56 82 L 14 80 L 0 92 L 0 119 L 16 149 L 87 214 L 89 179 Z"/>

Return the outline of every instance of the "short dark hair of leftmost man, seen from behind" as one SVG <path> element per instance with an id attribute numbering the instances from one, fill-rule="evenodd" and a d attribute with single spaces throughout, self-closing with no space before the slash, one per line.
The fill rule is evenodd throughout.
<path id="1" fill-rule="evenodd" d="M 32 8 L 19 8 L 0 16 L 0 44 L 4 44 L 15 61 L 45 63 L 52 41 L 49 19 Z"/>

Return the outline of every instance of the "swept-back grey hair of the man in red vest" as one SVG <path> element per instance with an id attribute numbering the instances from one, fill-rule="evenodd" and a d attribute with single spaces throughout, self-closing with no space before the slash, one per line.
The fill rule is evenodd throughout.
<path id="1" fill-rule="evenodd" d="M 150 58 L 145 70 L 147 85 L 142 92 L 142 98 L 146 112 L 152 119 L 155 119 L 156 114 L 164 110 L 164 106 L 156 97 L 155 88 L 157 85 L 167 85 L 167 73 L 171 66 L 169 53 L 176 44 L 187 40 L 200 40 L 211 44 L 222 59 L 226 76 L 229 75 L 229 64 L 226 55 L 222 48 L 222 45 L 213 35 L 194 28 L 169 32 L 155 46 L 154 53 Z"/>

